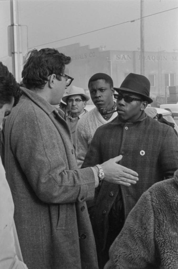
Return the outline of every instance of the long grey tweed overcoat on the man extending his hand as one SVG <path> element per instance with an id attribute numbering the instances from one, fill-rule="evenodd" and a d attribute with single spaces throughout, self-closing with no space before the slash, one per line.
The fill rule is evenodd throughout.
<path id="1" fill-rule="evenodd" d="M 95 177 L 91 168 L 77 168 L 66 121 L 23 89 L 4 132 L 2 159 L 28 269 L 97 269 L 85 202 L 94 197 Z"/>

